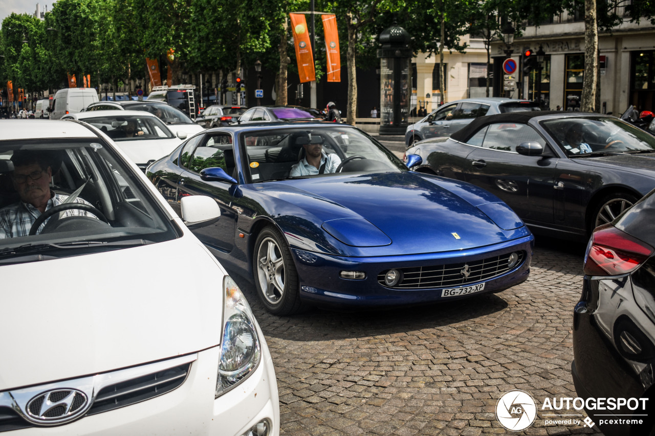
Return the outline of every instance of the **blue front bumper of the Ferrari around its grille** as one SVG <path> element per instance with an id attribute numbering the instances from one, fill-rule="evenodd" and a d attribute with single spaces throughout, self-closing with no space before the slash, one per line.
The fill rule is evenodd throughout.
<path id="1" fill-rule="evenodd" d="M 396 304 L 418 304 L 457 300 L 460 298 L 504 291 L 529 276 L 533 251 L 532 235 L 518 240 L 487 247 L 478 247 L 457 253 L 426 253 L 421 255 L 398 255 L 388 257 L 337 257 L 291 249 L 300 279 L 301 298 L 307 302 L 337 306 L 390 306 Z M 457 285 L 442 287 L 421 287 L 420 289 L 397 289 L 379 283 L 379 274 L 391 268 L 417 268 L 439 264 L 479 263 L 482 259 L 493 259 L 514 251 L 523 252 L 521 263 L 514 268 L 488 280 L 470 280 Z M 461 268 L 462 270 L 464 268 Z M 341 271 L 364 272 L 364 280 L 341 278 Z M 456 271 L 456 274 L 459 270 Z M 484 289 L 476 293 L 441 297 L 443 289 L 475 286 L 484 283 Z"/>

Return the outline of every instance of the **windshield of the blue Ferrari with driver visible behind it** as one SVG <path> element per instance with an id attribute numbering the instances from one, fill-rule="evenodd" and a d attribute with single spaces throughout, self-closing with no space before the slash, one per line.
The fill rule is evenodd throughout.
<path id="1" fill-rule="evenodd" d="M 359 130 L 303 126 L 240 135 L 253 182 L 341 172 L 407 171 L 402 160 Z"/>

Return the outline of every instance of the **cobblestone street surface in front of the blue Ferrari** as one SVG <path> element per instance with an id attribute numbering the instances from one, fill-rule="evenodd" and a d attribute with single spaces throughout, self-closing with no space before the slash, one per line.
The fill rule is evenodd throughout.
<path id="1" fill-rule="evenodd" d="M 553 240 L 554 241 L 554 240 Z M 514 433 L 495 416 L 508 390 L 576 397 L 571 379 L 572 310 L 582 287 L 584 247 L 539 240 L 531 276 L 500 294 L 374 312 L 312 309 L 267 314 L 243 283 L 278 378 L 283 435 L 479 435 Z M 544 244 L 539 244 L 543 242 Z M 546 425 L 517 434 L 597 433 Z M 580 414 L 582 413 L 582 414 Z"/>

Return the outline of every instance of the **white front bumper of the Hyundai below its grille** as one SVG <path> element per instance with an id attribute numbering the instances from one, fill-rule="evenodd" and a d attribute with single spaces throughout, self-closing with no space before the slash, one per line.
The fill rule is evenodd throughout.
<path id="1" fill-rule="evenodd" d="M 261 331 L 258 332 L 263 338 Z M 278 436 L 280 407 L 271 354 L 265 344 L 255 372 L 214 399 L 219 347 L 199 352 L 179 388 L 121 409 L 84 416 L 58 427 L 31 427 L 7 435 L 221 435 L 241 436 L 262 420 Z"/>

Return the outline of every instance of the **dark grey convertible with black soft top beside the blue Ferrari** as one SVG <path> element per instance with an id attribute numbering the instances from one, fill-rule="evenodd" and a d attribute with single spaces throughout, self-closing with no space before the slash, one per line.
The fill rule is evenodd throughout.
<path id="1" fill-rule="evenodd" d="M 655 137 L 594 113 L 477 118 L 405 154 L 413 170 L 487 189 L 533 230 L 566 238 L 586 238 L 655 187 Z"/>

